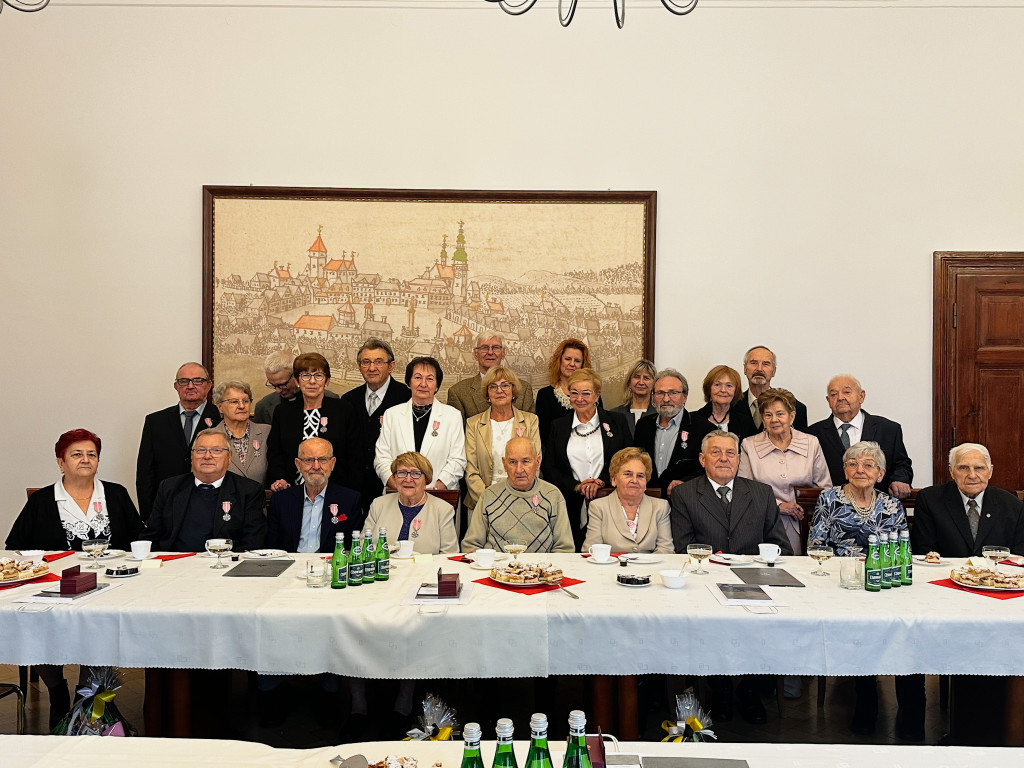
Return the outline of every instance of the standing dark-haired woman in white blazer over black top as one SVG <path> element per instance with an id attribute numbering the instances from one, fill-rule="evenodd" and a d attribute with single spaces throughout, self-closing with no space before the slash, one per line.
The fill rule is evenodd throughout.
<path id="1" fill-rule="evenodd" d="M 406 384 L 413 398 L 384 412 L 377 438 L 374 470 L 386 487 L 397 489 L 392 465 L 400 454 L 423 454 L 437 467 L 436 488 L 459 487 L 466 472 L 466 436 L 462 414 L 437 400 L 444 374 L 433 357 L 414 357 L 406 367 Z"/>

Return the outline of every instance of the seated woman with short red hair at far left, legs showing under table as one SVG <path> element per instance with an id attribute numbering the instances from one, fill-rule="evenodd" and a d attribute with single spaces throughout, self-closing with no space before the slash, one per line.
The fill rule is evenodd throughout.
<path id="1" fill-rule="evenodd" d="M 7 536 L 7 549 L 82 551 L 87 539 L 106 539 L 112 547 L 128 549 L 142 530 L 131 497 L 123 485 L 100 481 L 99 436 L 87 429 L 65 432 L 53 446 L 61 478 L 33 494 Z M 52 730 L 71 708 L 71 694 L 63 668 L 39 665 L 49 691 L 49 724 Z M 85 677 L 88 668 L 80 675 Z"/>

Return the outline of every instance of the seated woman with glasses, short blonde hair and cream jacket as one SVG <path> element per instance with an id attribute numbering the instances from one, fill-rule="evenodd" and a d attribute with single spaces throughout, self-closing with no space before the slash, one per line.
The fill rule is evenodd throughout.
<path id="1" fill-rule="evenodd" d="M 364 527 L 377 532 L 386 526 L 392 550 L 411 539 L 413 551 L 420 554 L 458 552 L 455 507 L 427 493 L 433 479 L 427 458 L 415 451 L 400 454 L 391 462 L 391 477 L 398 493 L 375 499 Z"/>

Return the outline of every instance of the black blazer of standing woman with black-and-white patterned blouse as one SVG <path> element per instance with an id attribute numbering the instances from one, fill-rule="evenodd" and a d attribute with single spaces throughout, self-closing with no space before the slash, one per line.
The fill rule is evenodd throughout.
<path id="1" fill-rule="evenodd" d="M 341 398 L 325 397 L 319 407 L 321 419 L 327 419 L 326 431 L 317 437 L 330 441 L 334 455 L 338 459 L 336 468 L 348 464 L 349 440 L 351 439 L 351 414 L 348 406 Z M 270 487 L 278 480 L 285 480 L 295 485 L 298 470 L 295 460 L 299 456 L 299 443 L 302 442 L 302 397 L 288 402 L 282 402 L 273 411 L 273 424 L 270 435 L 266 439 L 266 486 Z"/>

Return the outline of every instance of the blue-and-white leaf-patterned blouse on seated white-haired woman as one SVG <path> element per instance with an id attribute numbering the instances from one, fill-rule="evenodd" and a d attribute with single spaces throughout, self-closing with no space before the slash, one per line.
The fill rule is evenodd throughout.
<path id="1" fill-rule="evenodd" d="M 867 552 L 870 534 L 898 532 L 906 527 L 906 514 L 897 499 L 880 493 L 870 513 L 861 515 L 843 487 L 837 485 L 821 492 L 808 542 L 823 542 L 835 548 L 837 557 L 852 557 Z"/>

